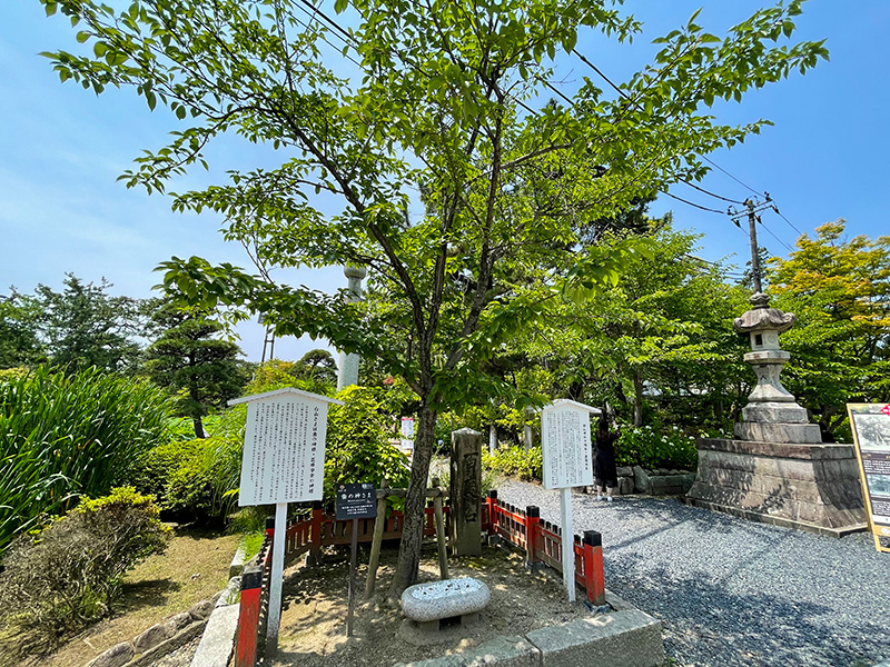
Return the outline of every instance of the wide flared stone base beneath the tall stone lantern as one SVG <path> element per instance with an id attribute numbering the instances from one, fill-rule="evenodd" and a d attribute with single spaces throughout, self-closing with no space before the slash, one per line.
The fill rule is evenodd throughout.
<path id="1" fill-rule="evenodd" d="M 852 445 L 708 438 L 698 447 L 691 505 L 833 537 L 866 528 Z"/>

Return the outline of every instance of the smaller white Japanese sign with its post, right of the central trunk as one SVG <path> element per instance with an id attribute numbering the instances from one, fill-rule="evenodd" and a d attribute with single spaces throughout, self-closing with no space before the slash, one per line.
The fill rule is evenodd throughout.
<path id="1" fill-rule="evenodd" d="M 593 484 L 591 415 L 600 410 L 561 399 L 541 411 L 541 454 L 544 488 L 561 489 L 563 583 L 568 601 L 575 601 L 575 535 L 572 522 L 572 487 Z"/>

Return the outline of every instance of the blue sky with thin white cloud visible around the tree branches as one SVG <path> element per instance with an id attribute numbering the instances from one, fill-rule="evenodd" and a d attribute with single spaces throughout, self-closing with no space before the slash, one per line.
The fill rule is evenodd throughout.
<path id="1" fill-rule="evenodd" d="M 698 22 L 711 32 L 743 20 L 763 2 L 724 0 L 629 0 L 625 9 L 645 23 L 632 46 L 614 46 L 584 37 L 577 49 L 614 81 L 624 80 L 655 51 L 650 42 L 686 22 L 704 4 Z M 332 10 L 333 1 L 325 6 Z M 333 13 L 333 12 L 332 12 Z M 792 74 L 755 91 L 741 104 L 721 104 L 714 113 L 725 122 L 768 118 L 775 126 L 744 145 L 711 155 L 734 179 L 758 192 L 768 190 L 790 222 L 812 235 L 819 225 L 846 218 L 848 232 L 876 237 L 890 233 L 886 217 L 887 0 L 811 0 L 798 18 L 795 39 L 827 39 L 830 62 L 805 77 Z M 170 115 L 149 112 L 131 91 L 100 97 L 77 84 L 61 84 L 40 51 L 76 48 L 62 17 L 47 19 L 37 0 L 7 0 L 0 9 L 0 293 L 10 286 L 31 292 L 38 282 L 60 288 L 66 271 L 115 283 L 112 293 L 147 297 L 158 281 L 152 269 L 171 256 L 198 255 L 247 267 L 238 246 L 226 243 L 211 215 L 170 211 L 169 199 L 127 190 L 117 177 L 142 149 L 157 148 L 175 127 Z M 595 74 L 577 60 L 560 61 L 558 76 L 571 92 L 581 77 Z M 602 83 L 602 81 L 601 81 Z M 235 138 L 209 153 L 216 169 L 249 168 L 265 158 L 261 149 Z M 174 190 L 194 187 L 196 175 Z M 703 186 L 742 200 L 752 195 L 733 178 L 714 170 Z M 725 203 L 680 185 L 673 193 L 702 206 Z M 654 215 L 674 212 L 675 225 L 704 235 L 700 255 L 716 260 L 736 253 L 743 265 L 748 239 L 725 216 L 661 198 Z M 787 255 L 798 232 L 772 213 L 763 216 L 761 245 Z M 773 238 L 775 235 L 777 238 Z M 784 245 L 783 245 L 784 243 Z M 345 286 L 342 269 L 287 275 L 291 283 L 324 290 Z M 258 359 L 263 331 L 239 329 L 241 346 Z M 307 340 L 280 340 L 276 356 L 296 358 L 319 347 Z"/>

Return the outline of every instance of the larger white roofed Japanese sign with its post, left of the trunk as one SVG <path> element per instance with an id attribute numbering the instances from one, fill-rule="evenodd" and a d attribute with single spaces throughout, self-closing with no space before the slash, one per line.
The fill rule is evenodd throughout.
<path id="1" fill-rule="evenodd" d="M 327 409 L 343 401 L 293 387 L 230 400 L 247 404 L 238 505 L 275 505 L 266 651 L 278 650 L 287 504 L 320 500 Z"/>

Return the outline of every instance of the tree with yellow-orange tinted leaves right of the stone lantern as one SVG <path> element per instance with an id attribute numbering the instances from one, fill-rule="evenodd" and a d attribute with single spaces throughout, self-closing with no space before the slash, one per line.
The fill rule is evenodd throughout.
<path id="1" fill-rule="evenodd" d="M 844 237 L 844 220 L 803 235 L 772 258 L 773 307 L 798 317 L 782 335 L 782 378 L 831 441 L 847 402 L 890 401 L 890 236 Z"/>

